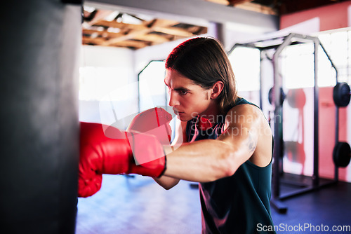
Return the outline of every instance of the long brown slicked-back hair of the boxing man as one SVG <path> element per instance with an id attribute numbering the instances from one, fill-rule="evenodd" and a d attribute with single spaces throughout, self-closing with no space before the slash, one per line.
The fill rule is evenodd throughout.
<path id="1" fill-rule="evenodd" d="M 205 89 L 222 81 L 224 87 L 217 100 L 223 114 L 229 111 L 237 99 L 232 65 L 216 39 L 197 37 L 180 43 L 168 55 L 166 69 L 178 71 Z"/>

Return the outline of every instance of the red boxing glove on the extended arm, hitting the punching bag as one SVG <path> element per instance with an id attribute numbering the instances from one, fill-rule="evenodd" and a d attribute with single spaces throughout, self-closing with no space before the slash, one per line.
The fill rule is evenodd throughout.
<path id="1" fill-rule="evenodd" d="M 102 174 L 160 177 L 166 170 L 163 148 L 153 136 L 114 127 L 106 128 L 104 134 L 99 123 L 81 123 L 80 137 L 79 197 L 99 191 Z"/>

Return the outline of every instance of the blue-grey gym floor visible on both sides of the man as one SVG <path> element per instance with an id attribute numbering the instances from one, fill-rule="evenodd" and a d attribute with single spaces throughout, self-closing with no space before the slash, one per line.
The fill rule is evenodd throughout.
<path id="1" fill-rule="evenodd" d="M 166 191 L 149 177 L 104 175 L 98 193 L 79 198 L 76 233 L 199 234 L 199 191 L 192 184 L 180 181 Z M 284 205 L 288 207 L 286 214 L 279 214 L 272 207 L 277 233 L 351 233 L 349 183 L 289 198 Z M 329 231 L 317 231 L 322 225 L 323 230 L 327 227 Z M 306 228 L 298 229 L 300 226 Z M 344 231 L 331 231 L 333 226 L 345 226 Z M 291 228 L 296 230 L 288 230 Z"/>

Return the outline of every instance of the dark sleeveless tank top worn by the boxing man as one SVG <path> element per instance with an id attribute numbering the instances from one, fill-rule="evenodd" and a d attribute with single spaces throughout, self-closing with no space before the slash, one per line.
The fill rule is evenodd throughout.
<path id="1" fill-rule="evenodd" d="M 234 106 L 252 104 L 238 98 Z M 253 104 L 254 105 L 254 104 Z M 199 130 L 199 117 L 187 123 L 188 142 L 217 139 L 224 131 L 225 117 L 207 130 Z M 202 233 L 275 233 L 270 214 L 272 162 L 258 167 L 247 160 L 231 177 L 199 183 Z"/>

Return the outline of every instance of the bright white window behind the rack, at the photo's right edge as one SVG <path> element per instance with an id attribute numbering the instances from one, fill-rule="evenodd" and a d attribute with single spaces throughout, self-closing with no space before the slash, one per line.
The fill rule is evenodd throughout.
<path id="1" fill-rule="evenodd" d="M 321 32 L 319 41 L 338 69 L 338 81 L 351 81 L 351 30 Z M 289 46 L 282 53 L 282 76 L 286 88 L 307 88 L 314 86 L 314 46 L 304 43 Z M 319 46 L 318 86 L 336 85 L 336 73 L 326 54 Z"/>

